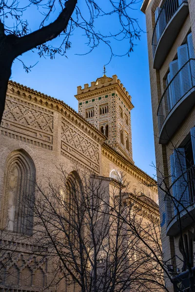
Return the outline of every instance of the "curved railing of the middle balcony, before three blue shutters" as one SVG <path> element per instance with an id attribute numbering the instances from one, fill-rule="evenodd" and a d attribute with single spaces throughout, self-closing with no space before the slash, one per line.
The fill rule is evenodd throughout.
<path id="1" fill-rule="evenodd" d="M 189 59 L 176 73 L 165 89 L 158 105 L 159 133 L 171 110 L 195 86 L 195 59 Z"/>

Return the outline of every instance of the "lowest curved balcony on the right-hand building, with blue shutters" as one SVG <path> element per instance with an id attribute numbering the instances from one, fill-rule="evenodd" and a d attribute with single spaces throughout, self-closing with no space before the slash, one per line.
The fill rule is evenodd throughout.
<path id="1" fill-rule="evenodd" d="M 174 198 L 173 193 L 176 187 L 178 197 Z M 188 168 L 187 171 L 172 183 L 170 193 L 170 196 L 165 199 L 166 235 L 175 236 L 180 231 L 178 213 L 182 229 L 195 221 L 195 165 Z"/>

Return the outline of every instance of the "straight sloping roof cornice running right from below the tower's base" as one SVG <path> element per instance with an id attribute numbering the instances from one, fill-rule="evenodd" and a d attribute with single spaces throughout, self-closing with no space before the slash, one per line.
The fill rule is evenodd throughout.
<path id="1" fill-rule="evenodd" d="M 135 177 L 139 182 L 145 185 L 151 185 L 149 187 L 157 193 L 157 182 L 147 173 L 145 173 L 143 170 L 133 164 L 131 161 L 123 157 L 112 146 L 103 143 L 102 154 L 110 159 L 112 162 L 117 164 L 124 171 Z"/>

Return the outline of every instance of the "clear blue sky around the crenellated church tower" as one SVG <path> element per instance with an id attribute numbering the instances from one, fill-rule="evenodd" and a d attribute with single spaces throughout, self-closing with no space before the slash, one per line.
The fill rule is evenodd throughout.
<path id="1" fill-rule="evenodd" d="M 141 2 L 134 8 L 132 14 L 138 18 L 139 25 L 146 31 L 145 15 L 140 12 Z M 29 21 L 35 19 L 33 14 L 27 16 Z M 102 23 L 102 26 L 106 23 Z M 34 28 L 35 27 L 35 28 Z M 36 23 L 32 30 L 36 29 Z M 114 26 L 112 25 L 112 28 Z M 114 27 L 115 28 L 115 27 Z M 72 48 L 67 57 L 56 56 L 54 60 L 39 58 L 37 53 L 27 52 L 22 55 L 26 65 L 37 65 L 30 73 L 25 73 L 22 64 L 15 60 L 12 66 L 11 79 L 37 91 L 63 100 L 73 109 L 78 110 L 78 101 L 74 97 L 77 86 L 90 84 L 102 76 L 103 65 L 109 62 L 110 52 L 105 45 L 100 45 L 88 55 L 76 55 L 87 52 L 85 38 L 77 31 L 73 35 Z M 113 48 L 122 51 L 125 43 L 113 41 Z M 153 176 L 155 163 L 154 134 L 152 124 L 150 80 L 148 68 L 147 35 L 141 34 L 140 41 L 134 47 L 130 56 L 114 57 L 106 66 L 107 76 L 117 74 L 124 87 L 132 96 L 135 108 L 132 113 L 132 144 L 133 159 L 142 170 Z"/>

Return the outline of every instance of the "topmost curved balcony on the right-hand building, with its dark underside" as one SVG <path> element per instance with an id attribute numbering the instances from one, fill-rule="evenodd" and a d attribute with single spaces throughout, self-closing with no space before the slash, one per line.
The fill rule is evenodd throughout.
<path id="1" fill-rule="evenodd" d="M 152 37 L 154 69 L 160 69 L 189 13 L 187 0 L 166 0 Z"/>

